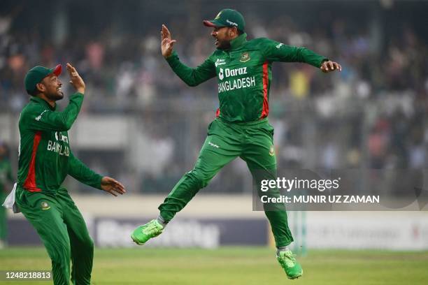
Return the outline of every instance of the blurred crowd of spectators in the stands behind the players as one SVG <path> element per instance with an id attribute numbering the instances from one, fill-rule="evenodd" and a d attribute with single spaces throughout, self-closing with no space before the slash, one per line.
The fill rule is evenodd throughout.
<path id="1" fill-rule="evenodd" d="M 331 17 L 322 10 L 309 24 L 292 15 L 244 16 L 249 39 L 305 46 L 343 66 L 341 73 L 324 75 L 305 64 L 274 64 L 269 117 L 276 128 L 279 168 L 428 167 L 428 38 L 415 32 L 411 18 L 397 18 L 390 27 L 370 18 Z M 144 31 L 122 33 L 108 27 L 55 40 L 33 29 L 15 29 L 20 17 L 19 10 L 0 14 L 1 112 L 20 112 L 27 103 L 22 82 L 29 68 L 71 61 L 90 94 L 83 112 L 137 114 L 145 124 L 141 135 L 148 139 L 143 141 L 159 146 L 159 163 L 132 171 L 125 162 L 126 171 L 118 174 L 134 173 L 128 180 L 139 177 L 143 186 L 138 187 L 169 191 L 186 170 L 183 163 L 192 167 L 197 155 L 183 157 L 188 152 L 182 151 L 187 147 L 182 139 L 191 131 L 185 125 L 204 118 L 194 125 L 201 145 L 215 115 L 215 80 L 190 88 L 173 74 L 159 50 L 162 22 Z M 324 17 L 331 20 L 322 21 Z M 190 21 L 171 15 L 166 24 L 177 39 L 180 59 L 197 66 L 214 44 L 211 29 Z M 62 80 L 64 85 L 68 81 Z M 243 168 L 245 164 L 236 163 L 222 177 L 234 181 L 227 177 L 241 175 Z M 233 183 L 215 185 L 213 191 L 242 191 Z"/>

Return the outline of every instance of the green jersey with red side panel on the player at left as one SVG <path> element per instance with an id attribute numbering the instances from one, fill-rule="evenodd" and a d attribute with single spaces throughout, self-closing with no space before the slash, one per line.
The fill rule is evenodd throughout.
<path id="1" fill-rule="evenodd" d="M 67 174 L 101 189 L 102 176 L 79 161 L 70 150 L 67 131 L 76 120 L 83 94 L 70 96 L 58 112 L 45 100 L 31 97 L 20 115 L 20 157 L 17 184 L 31 192 L 55 192 Z"/>

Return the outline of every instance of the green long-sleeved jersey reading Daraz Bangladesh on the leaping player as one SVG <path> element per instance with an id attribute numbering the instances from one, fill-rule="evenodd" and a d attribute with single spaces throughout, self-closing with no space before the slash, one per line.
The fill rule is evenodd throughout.
<path id="1" fill-rule="evenodd" d="M 190 68 L 176 52 L 166 59 L 173 71 L 190 86 L 217 76 L 220 108 L 217 117 L 227 122 L 253 122 L 269 115 L 269 88 L 274 61 L 304 62 L 320 67 L 328 60 L 305 47 L 284 45 L 269 38 L 246 40 L 242 34 L 229 50 L 215 50 L 203 64 Z"/>

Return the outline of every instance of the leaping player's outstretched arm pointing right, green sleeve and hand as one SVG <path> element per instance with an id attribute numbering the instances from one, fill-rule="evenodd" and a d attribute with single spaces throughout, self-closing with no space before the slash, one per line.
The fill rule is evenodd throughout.
<path id="1" fill-rule="evenodd" d="M 264 39 L 264 55 L 268 61 L 303 62 L 321 69 L 322 72 L 341 71 L 342 66 L 306 47 L 294 47 L 277 41 Z"/>

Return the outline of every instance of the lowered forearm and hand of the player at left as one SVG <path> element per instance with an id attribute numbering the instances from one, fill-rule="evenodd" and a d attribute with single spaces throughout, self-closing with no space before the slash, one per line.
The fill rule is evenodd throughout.
<path id="1" fill-rule="evenodd" d="M 117 196 L 117 194 L 122 195 L 126 192 L 122 183 L 111 177 L 103 177 L 95 173 L 94 170 L 88 168 L 85 163 L 74 156 L 73 152 L 70 152 L 68 173 L 83 184 L 104 190 L 113 196 Z"/>

